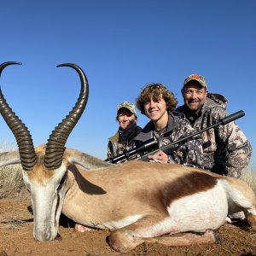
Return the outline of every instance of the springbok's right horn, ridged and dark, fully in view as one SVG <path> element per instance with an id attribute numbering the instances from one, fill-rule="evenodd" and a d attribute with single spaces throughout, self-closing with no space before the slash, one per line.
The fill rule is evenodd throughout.
<path id="1" fill-rule="evenodd" d="M 61 166 L 67 137 L 84 112 L 89 95 L 88 80 L 80 67 L 71 63 L 61 64 L 57 67 L 73 67 L 73 69 L 79 73 L 81 90 L 79 99 L 73 107 L 73 110 L 68 113 L 66 118 L 63 119 L 58 126 L 55 127 L 55 130 L 52 131 L 51 135 L 49 136 L 44 156 L 44 166 L 49 170 L 54 170 Z"/>

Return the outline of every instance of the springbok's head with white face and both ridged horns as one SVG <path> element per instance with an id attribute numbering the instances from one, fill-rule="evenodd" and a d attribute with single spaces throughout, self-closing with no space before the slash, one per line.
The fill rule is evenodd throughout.
<path id="1" fill-rule="evenodd" d="M 19 62 L 9 61 L 0 65 L 0 76 L 3 68 Z M 68 160 L 65 154 L 65 143 L 73 127 L 79 121 L 87 103 L 89 87 L 83 70 L 71 63 L 57 67 L 72 67 L 81 81 L 81 90 L 72 111 L 55 127 L 46 145 L 34 148 L 32 136 L 26 125 L 9 108 L 0 89 L 0 111 L 3 119 L 15 135 L 18 149 L 1 154 L 0 166 L 20 163 L 26 188 L 31 193 L 34 228 L 33 236 L 38 241 L 53 240 L 57 236 L 59 218 L 67 191 Z M 74 160 L 75 161 L 75 160 Z"/>

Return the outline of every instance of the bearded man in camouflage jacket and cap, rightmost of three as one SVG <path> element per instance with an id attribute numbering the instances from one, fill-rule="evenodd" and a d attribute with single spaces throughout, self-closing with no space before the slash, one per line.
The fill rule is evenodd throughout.
<path id="1" fill-rule="evenodd" d="M 189 75 L 181 92 L 184 105 L 177 111 L 184 113 L 198 131 L 229 115 L 225 111 L 226 98 L 208 93 L 206 80 L 201 75 Z M 252 148 L 235 122 L 205 131 L 201 133 L 201 138 L 205 169 L 231 177 L 241 176 L 250 160 Z"/>

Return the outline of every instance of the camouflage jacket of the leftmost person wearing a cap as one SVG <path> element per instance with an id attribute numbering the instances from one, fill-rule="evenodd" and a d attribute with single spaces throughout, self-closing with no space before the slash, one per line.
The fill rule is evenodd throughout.
<path id="1" fill-rule="evenodd" d="M 134 147 L 133 139 L 136 137 L 142 128 L 136 126 L 127 136 L 122 137 L 117 131 L 113 137 L 108 138 L 108 158 L 113 158 L 119 154 L 123 154 L 124 150 L 131 150 Z"/>

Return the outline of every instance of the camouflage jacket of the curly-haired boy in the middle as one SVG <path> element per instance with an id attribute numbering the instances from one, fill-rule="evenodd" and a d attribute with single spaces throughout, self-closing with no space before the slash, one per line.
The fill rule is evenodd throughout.
<path id="1" fill-rule="evenodd" d="M 138 146 L 154 137 L 158 145 L 154 148 L 150 148 L 150 151 L 153 151 L 166 144 L 187 137 L 194 132 L 195 130 L 189 125 L 189 122 L 185 119 L 183 114 L 173 112 L 169 115 L 165 131 L 154 131 L 154 124 L 152 121 L 149 121 L 143 128 L 143 131 L 135 137 L 134 140 L 136 146 Z M 189 140 L 178 144 L 177 147 L 168 154 L 168 163 L 202 167 L 202 153 L 201 137 L 191 137 Z"/>

